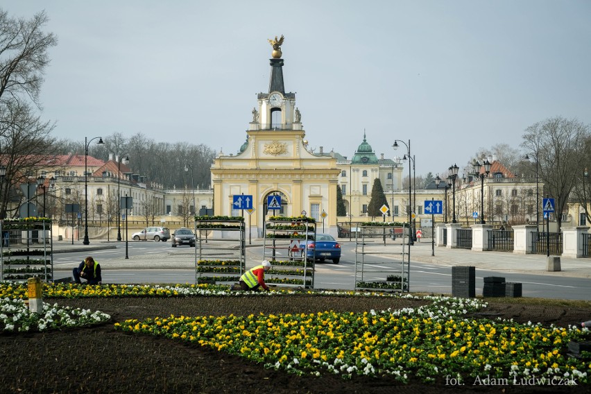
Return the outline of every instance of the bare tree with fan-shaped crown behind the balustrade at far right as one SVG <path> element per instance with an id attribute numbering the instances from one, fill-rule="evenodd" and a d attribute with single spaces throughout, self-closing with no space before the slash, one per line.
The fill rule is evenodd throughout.
<path id="1" fill-rule="evenodd" d="M 578 182 L 581 163 L 587 160 L 585 142 L 589 137 L 588 126 L 563 117 L 534 123 L 524 132 L 522 147 L 538 159 L 540 179 L 548 195 L 555 199 L 558 227 L 562 224 L 569 194 Z"/>

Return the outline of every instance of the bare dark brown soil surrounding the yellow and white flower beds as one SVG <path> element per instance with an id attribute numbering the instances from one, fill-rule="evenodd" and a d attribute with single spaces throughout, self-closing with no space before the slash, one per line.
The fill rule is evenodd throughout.
<path id="1" fill-rule="evenodd" d="M 108 324 L 61 332 L 0 335 L 0 393 L 589 393 L 591 387 L 402 385 L 389 377 L 298 377 L 222 352 L 148 335 L 115 331 L 113 323 L 155 316 L 219 316 L 418 307 L 396 298 L 197 297 L 44 300 L 100 310 Z M 589 320 L 591 309 L 490 302 L 472 318 L 513 318 L 566 327 Z"/>

